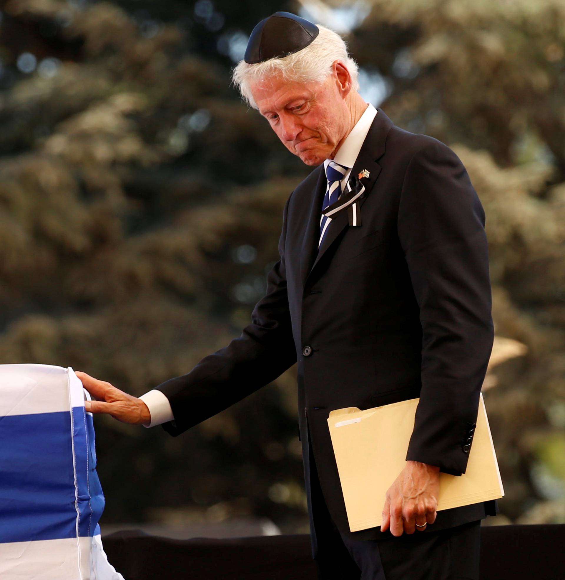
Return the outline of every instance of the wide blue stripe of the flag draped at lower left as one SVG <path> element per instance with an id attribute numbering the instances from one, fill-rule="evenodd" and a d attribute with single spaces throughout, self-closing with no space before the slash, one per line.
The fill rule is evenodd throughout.
<path id="1" fill-rule="evenodd" d="M 73 422 L 79 535 L 93 536 L 104 496 L 92 416 L 75 407 Z M 0 417 L 0 543 L 74 538 L 76 516 L 71 414 Z"/>

